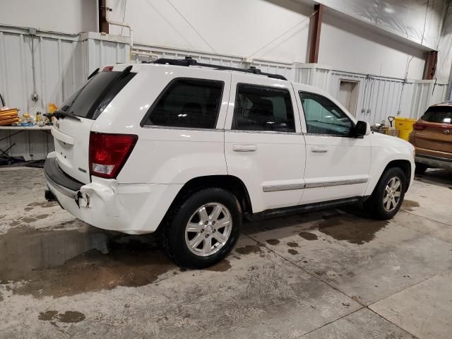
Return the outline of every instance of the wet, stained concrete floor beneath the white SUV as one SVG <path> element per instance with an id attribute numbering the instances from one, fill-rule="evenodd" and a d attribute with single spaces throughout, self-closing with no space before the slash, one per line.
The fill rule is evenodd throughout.
<path id="1" fill-rule="evenodd" d="M 246 224 L 208 270 L 97 230 L 0 169 L 0 338 L 452 338 L 452 172 L 389 222 L 346 210 Z"/>

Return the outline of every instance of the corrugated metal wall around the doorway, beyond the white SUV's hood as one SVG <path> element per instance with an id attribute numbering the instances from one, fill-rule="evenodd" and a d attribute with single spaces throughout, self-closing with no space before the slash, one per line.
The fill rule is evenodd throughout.
<path id="1" fill-rule="evenodd" d="M 446 100 L 447 83 L 441 81 L 404 81 L 361 73 L 333 70 L 312 64 L 296 64 L 296 81 L 313 85 L 338 97 L 340 81 L 358 85 L 355 117 L 370 124 L 389 116 L 419 118 L 430 105 Z M 387 121 L 386 121 L 387 123 Z"/>

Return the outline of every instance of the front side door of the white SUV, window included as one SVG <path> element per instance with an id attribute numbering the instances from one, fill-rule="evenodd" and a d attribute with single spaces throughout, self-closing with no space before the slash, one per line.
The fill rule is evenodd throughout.
<path id="1" fill-rule="evenodd" d="M 355 123 L 323 95 L 299 91 L 306 132 L 306 183 L 302 203 L 362 196 L 369 181 L 369 136 L 353 138 Z"/>

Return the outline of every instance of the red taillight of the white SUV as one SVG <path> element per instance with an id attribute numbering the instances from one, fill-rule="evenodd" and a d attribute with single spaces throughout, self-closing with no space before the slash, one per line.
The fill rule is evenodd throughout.
<path id="1" fill-rule="evenodd" d="M 112 179 L 124 166 L 138 136 L 90 133 L 90 174 Z"/>

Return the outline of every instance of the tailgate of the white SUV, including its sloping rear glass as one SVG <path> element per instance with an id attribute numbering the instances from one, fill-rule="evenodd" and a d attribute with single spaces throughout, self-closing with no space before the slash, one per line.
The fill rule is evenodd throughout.
<path id="1" fill-rule="evenodd" d="M 124 71 L 129 69 L 129 71 Z M 90 78 L 61 106 L 71 117 L 54 119 L 52 136 L 59 167 L 79 182 L 90 182 L 90 130 L 95 119 L 136 73 L 131 66 L 117 65 L 105 68 Z M 136 71 L 136 69 L 133 69 Z M 61 114 L 62 115 L 62 114 Z"/>

